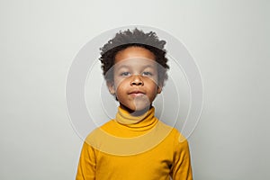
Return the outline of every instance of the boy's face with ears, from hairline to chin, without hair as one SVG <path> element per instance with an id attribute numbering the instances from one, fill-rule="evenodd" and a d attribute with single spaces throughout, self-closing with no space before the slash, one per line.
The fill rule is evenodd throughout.
<path id="1" fill-rule="evenodd" d="M 157 62 L 148 49 L 129 47 L 115 56 L 111 94 L 129 112 L 148 110 L 161 87 L 157 85 Z"/>

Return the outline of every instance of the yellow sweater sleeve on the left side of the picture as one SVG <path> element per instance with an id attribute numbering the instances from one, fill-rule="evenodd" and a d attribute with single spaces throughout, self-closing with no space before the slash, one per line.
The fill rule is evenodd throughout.
<path id="1" fill-rule="evenodd" d="M 94 180 L 95 162 L 94 148 L 85 142 L 77 166 L 76 180 Z"/>

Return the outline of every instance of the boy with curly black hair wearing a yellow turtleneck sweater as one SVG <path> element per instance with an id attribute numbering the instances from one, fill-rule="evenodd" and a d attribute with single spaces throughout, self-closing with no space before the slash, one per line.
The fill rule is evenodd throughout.
<path id="1" fill-rule="evenodd" d="M 120 103 L 115 119 L 85 139 L 76 180 L 191 180 L 187 140 L 155 117 L 167 78 L 164 40 L 120 31 L 101 49 L 103 76 Z"/>

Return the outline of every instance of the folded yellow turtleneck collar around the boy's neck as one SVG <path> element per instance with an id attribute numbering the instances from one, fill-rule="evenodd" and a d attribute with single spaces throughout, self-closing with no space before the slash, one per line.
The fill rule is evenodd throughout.
<path id="1" fill-rule="evenodd" d="M 148 112 L 145 112 L 139 116 L 133 116 L 132 114 L 130 114 L 130 112 L 127 112 L 121 107 L 118 107 L 115 121 L 131 129 L 148 130 L 153 128 L 158 120 L 155 117 L 154 107 L 151 107 Z"/>

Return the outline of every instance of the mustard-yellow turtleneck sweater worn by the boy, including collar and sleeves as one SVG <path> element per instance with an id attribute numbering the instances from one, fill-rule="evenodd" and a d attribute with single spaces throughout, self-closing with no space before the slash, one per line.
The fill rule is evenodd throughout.
<path id="1" fill-rule="evenodd" d="M 85 139 L 76 180 L 193 179 L 186 139 L 154 115 L 154 107 L 141 116 L 119 108 Z"/>

